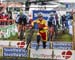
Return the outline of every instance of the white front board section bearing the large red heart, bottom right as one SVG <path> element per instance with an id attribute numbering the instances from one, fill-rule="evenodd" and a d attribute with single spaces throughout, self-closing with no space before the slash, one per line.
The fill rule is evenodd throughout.
<path id="1" fill-rule="evenodd" d="M 54 59 L 57 60 L 75 60 L 75 51 L 73 50 L 54 50 Z"/>

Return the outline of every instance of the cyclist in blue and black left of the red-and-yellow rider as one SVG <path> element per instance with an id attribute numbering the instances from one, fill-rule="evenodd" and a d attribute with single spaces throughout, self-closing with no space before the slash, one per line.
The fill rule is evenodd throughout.
<path id="1" fill-rule="evenodd" d="M 25 31 L 27 20 L 28 20 L 28 16 L 24 14 L 22 11 L 20 11 L 20 13 L 17 15 L 17 18 L 16 18 L 16 23 L 18 28 L 18 38 L 20 37 L 21 28 L 23 28 L 23 31 Z M 22 23 L 23 23 L 23 26 L 22 26 Z"/>

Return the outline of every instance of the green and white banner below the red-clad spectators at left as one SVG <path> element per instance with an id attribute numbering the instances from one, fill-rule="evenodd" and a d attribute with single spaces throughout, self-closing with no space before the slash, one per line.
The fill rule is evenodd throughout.
<path id="1" fill-rule="evenodd" d="M 16 25 L 9 25 L 7 27 L 2 27 L 0 28 L 0 38 L 8 38 L 11 35 L 15 36 L 17 32 L 17 27 Z"/>

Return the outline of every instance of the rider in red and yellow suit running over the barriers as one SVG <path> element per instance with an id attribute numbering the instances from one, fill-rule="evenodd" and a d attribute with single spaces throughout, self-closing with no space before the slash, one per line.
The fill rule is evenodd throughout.
<path id="1" fill-rule="evenodd" d="M 41 14 L 38 15 L 38 19 L 34 20 L 32 22 L 32 26 L 34 26 L 34 24 L 38 25 L 38 33 L 37 33 L 37 47 L 36 49 L 39 48 L 39 43 L 40 43 L 40 39 L 42 38 L 42 43 L 43 43 L 43 48 L 46 48 L 46 42 L 47 42 L 47 21 L 43 19 L 43 16 Z"/>

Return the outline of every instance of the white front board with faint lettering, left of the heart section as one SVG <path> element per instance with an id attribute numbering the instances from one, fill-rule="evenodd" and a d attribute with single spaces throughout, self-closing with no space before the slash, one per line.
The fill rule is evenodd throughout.
<path id="1" fill-rule="evenodd" d="M 31 58 L 41 58 L 41 59 L 51 59 L 52 58 L 52 50 L 51 49 L 31 49 L 30 53 Z"/>

